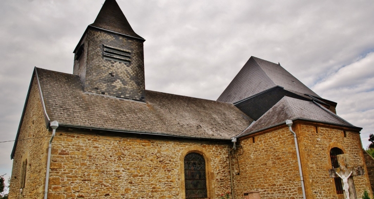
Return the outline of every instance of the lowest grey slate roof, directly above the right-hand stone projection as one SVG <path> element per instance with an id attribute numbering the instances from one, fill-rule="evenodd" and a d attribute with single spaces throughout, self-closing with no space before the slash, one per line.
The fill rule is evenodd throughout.
<path id="1" fill-rule="evenodd" d="M 268 127 L 285 124 L 287 119 L 316 121 L 361 129 L 348 123 L 317 102 L 285 96 L 257 121 L 248 126 L 238 137 L 253 134 Z"/>

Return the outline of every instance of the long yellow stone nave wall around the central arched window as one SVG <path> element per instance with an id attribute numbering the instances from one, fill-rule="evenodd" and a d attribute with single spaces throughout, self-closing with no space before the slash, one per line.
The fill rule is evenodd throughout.
<path id="1" fill-rule="evenodd" d="M 49 198 L 183 198 L 186 153 L 205 158 L 209 198 L 230 190 L 228 145 L 81 134 L 57 128 Z"/>

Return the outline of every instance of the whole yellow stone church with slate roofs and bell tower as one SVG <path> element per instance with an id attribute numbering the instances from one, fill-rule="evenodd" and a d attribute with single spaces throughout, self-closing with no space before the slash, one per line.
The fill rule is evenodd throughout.
<path id="1" fill-rule="evenodd" d="M 34 69 L 9 198 L 372 195 L 362 128 L 279 63 L 250 57 L 216 101 L 161 93 L 144 41 L 106 0 L 73 74 Z"/>

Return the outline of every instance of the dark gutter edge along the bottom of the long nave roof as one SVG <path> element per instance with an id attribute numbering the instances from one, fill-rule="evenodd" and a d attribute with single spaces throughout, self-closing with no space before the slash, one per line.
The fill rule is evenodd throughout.
<path id="1" fill-rule="evenodd" d="M 76 125 L 76 124 L 67 124 L 67 123 L 58 123 L 59 126 L 65 127 L 73 127 L 73 128 L 85 128 L 85 129 L 93 129 L 93 130 L 105 130 L 111 132 L 126 132 L 129 134 L 140 134 L 140 135 L 152 135 L 152 136 L 164 136 L 164 137 L 172 137 L 172 138 L 189 138 L 189 139 L 199 139 L 199 140 L 220 140 L 220 141 L 229 141 L 231 138 L 227 139 L 215 139 L 215 138 L 204 138 L 204 137 L 194 137 L 194 136 L 176 136 L 170 134 L 163 134 L 161 132 L 150 132 L 150 131 L 137 131 L 137 130 L 123 130 L 123 129 L 116 129 L 116 128 L 105 128 L 105 127 L 98 127 L 98 126 L 87 126 L 87 125 Z"/>

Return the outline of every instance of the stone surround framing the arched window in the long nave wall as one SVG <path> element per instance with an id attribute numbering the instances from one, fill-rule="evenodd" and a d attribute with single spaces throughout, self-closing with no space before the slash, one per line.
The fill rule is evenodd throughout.
<path id="1" fill-rule="evenodd" d="M 185 199 L 185 182 L 184 182 L 184 157 L 189 153 L 198 153 L 200 154 L 205 160 L 205 176 L 206 176 L 206 192 L 207 198 L 215 198 L 215 190 L 213 189 L 214 183 L 214 174 L 212 172 L 211 167 L 211 156 L 207 153 L 203 148 L 199 146 L 193 146 L 185 148 L 179 157 L 180 162 L 180 174 L 181 174 L 181 182 L 180 182 L 180 192 L 182 193 L 182 198 Z"/>

